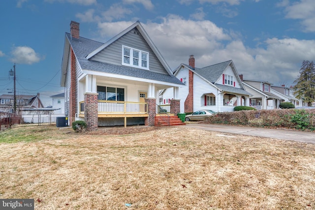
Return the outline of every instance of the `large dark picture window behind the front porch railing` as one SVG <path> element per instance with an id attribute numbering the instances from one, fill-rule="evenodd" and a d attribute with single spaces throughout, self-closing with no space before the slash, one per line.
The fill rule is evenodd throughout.
<path id="1" fill-rule="evenodd" d="M 125 89 L 97 86 L 97 100 L 125 101 Z"/>

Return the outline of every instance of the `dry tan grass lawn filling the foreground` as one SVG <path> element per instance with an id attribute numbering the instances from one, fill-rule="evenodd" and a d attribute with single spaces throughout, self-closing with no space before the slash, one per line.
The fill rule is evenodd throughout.
<path id="1" fill-rule="evenodd" d="M 315 209 L 315 145 L 185 126 L 114 130 L 0 143 L 0 198 L 33 198 L 36 210 Z"/>

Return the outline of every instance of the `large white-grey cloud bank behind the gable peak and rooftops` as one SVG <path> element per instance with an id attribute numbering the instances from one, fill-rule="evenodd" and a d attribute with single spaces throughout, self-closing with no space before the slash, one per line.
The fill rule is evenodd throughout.
<path id="1" fill-rule="evenodd" d="M 112 38 L 134 22 L 99 23 L 102 36 Z M 160 23 L 141 23 L 164 59 L 174 70 L 194 55 L 196 67 L 233 60 L 246 79 L 289 85 L 299 75 L 303 60 L 314 60 L 315 40 L 269 38 L 259 47 L 244 44 L 237 31 L 226 31 L 208 20 L 192 21 L 169 15 Z"/>

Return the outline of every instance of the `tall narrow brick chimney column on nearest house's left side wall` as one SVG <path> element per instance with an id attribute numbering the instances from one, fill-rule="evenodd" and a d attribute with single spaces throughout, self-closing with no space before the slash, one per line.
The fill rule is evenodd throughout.
<path id="1" fill-rule="evenodd" d="M 71 73 L 70 73 L 70 95 L 69 95 L 69 123 L 70 126 L 75 120 L 75 113 L 77 108 L 76 103 L 76 71 L 75 71 L 75 55 L 71 48 Z"/>

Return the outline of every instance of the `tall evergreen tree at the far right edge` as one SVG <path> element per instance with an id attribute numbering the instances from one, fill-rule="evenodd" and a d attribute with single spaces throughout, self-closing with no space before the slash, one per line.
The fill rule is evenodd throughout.
<path id="1" fill-rule="evenodd" d="M 312 105 L 315 101 L 315 66 L 313 61 L 303 60 L 300 76 L 294 81 L 293 91 L 297 99 Z"/>

